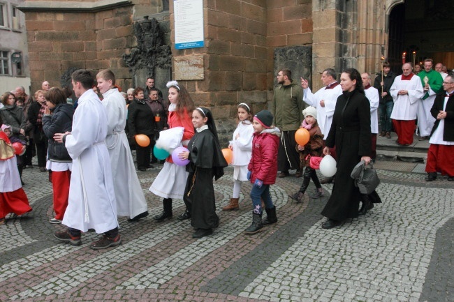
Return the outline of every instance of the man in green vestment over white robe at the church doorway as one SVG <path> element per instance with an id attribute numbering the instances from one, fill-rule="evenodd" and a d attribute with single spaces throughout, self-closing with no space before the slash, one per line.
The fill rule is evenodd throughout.
<path id="1" fill-rule="evenodd" d="M 419 129 L 419 140 L 429 139 L 430 131 L 434 127 L 435 119 L 430 115 L 430 109 L 434 105 L 435 96 L 441 89 L 443 83 L 443 77 L 440 73 L 432 69 L 434 61 L 432 59 L 424 60 L 424 70 L 418 73 L 421 84 L 423 85 L 424 95 L 418 102 L 418 129 Z"/>

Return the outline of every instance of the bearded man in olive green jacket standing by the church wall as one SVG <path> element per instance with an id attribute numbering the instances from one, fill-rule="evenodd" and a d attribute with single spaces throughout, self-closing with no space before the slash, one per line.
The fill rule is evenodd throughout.
<path id="1" fill-rule="evenodd" d="M 277 85 L 270 105 L 274 116 L 272 126 L 281 130 L 281 142 L 277 151 L 278 177 L 288 176 L 289 169 L 296 169 L 295 177 L 301 177 L 300 155 L 296 151 L 295 132 L 300 128 L 302 110 L 307 107 L 302 102 L 300 85 L 292 80 L 292 72 L 282 68 L 277 73 Z"/>

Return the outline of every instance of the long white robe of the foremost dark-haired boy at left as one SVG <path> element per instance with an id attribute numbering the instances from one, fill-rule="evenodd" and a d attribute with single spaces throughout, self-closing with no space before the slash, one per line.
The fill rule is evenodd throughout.
<path id="1" fill-rule="evenodd" d="M 79 98 L 73 130 L 65 146 L 73 158 L 68 207 L 63 224 L 82 232 L 104 233 L 118 227 L 112 169 L 105 136 L 107 114 L 92 89 Z"/>

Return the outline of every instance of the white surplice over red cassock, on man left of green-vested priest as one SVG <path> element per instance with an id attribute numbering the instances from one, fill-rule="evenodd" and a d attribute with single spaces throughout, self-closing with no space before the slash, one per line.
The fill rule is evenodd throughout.
<path id="1" fill-rule="evenodd" d="M 407 90 L 408 94 L 397 95 L 400 90 Z M 395 77 L 389 92 L 394 100 L 391 119 L 398 121 L 412 121 L 416 119 L 418 100 L 424 95 L 420 77 L 413 75 L 411 80 L 402 80 L 402 75 L 399 75 Z"/>

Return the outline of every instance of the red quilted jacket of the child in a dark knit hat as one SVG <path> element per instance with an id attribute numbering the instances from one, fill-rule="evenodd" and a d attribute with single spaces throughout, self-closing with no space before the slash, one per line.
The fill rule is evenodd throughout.
<path id="1" fill-rule="evenodd" d="M 247 169 L 252 172 L 251 183 L 254 183 L 256 179 L 263 181 L 264 185 L 272 185 L 276 182 L 279 135 L 278 128 L 254 133 L 252 157 L 247 166 Z"/>

